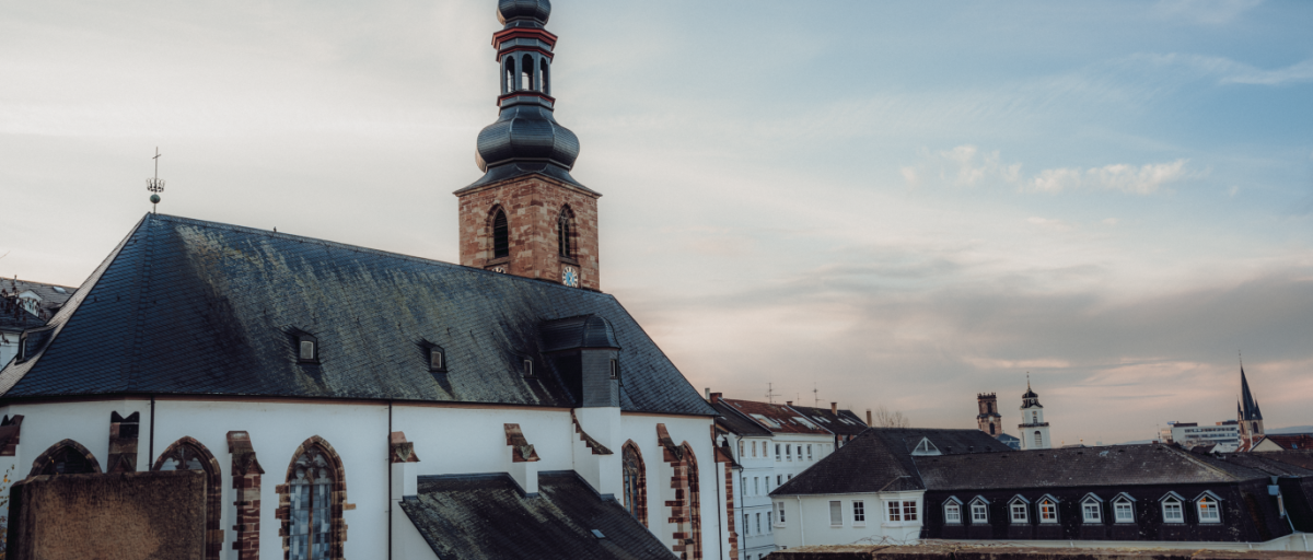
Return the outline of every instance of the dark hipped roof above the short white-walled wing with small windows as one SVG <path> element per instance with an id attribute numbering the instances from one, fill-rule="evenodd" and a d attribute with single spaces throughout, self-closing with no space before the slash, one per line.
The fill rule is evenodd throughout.
<path id="1" fill-rule="evenodd" d="M 771 496 L 922 490 L 897 434 L 872 428 L 771 492 Z"/>

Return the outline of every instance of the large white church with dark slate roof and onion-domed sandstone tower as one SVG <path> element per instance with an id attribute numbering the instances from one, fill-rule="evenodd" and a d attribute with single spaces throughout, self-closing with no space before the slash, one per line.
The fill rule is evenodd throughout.
<path id="1" fill-rule="evenodd" d="M 601 291 L 548 0 L 460 264 L 147 214 L 0 370 L 11 477 L 197 470 L 207 560 L 734 557 L 713 409 Z"/>

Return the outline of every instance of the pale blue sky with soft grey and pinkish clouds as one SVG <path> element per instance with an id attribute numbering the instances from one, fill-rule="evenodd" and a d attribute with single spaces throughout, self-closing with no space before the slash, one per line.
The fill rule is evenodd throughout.
<path id="1" fill-rule="evenodd" d="M 150 211 L 457 260 L 491 0 L 0 4 L 0 275 Z M 699 390 L 1313 425 L 1313 3 L 559 0 L 601 286 Z M 1015 433 L 1015 428 L 1008 430 Z"/>

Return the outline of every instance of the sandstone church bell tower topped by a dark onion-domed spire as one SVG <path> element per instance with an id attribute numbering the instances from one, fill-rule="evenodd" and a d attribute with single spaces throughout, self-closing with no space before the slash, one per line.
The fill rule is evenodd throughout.
<path id="1" fill-rule="evenodd" d="M 600 290 L 597 198 L 570 176 L 579 138 L 553 118 L 548 0 L 500 0 L 492 34 L 502 94 L 478 138 L 483 177 L 457 190 L 461 264 Z"/>

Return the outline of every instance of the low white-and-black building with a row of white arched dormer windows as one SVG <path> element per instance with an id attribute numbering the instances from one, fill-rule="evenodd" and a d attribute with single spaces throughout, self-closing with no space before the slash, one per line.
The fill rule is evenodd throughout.
<path id="1" fill-rule="evenodd" d="M 987 435 L 943 431 L 868 430 L 779 488 L 776 540 L 1284 550 L 1313 523 L 1310 454 L 1215 456 L 1165 445 L 962 452 L 962 443 L 949 449 L 953 431 Z M 872 501 L 882 502 L 881 523 L 859 525 L 856 502 L 865 511 Z"/>

